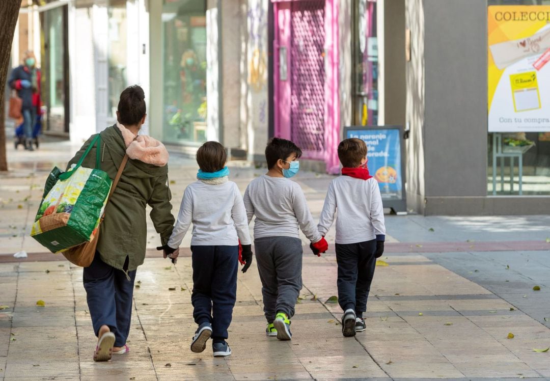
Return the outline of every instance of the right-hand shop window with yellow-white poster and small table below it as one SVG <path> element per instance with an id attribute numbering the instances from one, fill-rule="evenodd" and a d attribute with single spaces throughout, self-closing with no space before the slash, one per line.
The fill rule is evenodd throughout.
<path id="1" fill-rule="evenodd" d="M 550 1 L 487 4 L 487 191 L 549 195 Z"/>

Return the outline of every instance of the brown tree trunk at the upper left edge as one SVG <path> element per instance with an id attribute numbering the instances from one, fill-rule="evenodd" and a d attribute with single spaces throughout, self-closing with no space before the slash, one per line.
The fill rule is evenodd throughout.
<path id="1" fill-rule="evenodd" d="M 0 171 L 8 170 L 5 156 L 4 85 L 8 76 L 9 56 L 12 52 L 13 32 L 19 17 L 21 0 L 0 1 Z"/>

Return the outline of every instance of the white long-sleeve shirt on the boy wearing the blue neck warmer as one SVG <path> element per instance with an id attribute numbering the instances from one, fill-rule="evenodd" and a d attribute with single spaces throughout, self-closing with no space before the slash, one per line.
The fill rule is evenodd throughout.
<path id="1" fill-rule="evenodd" d="M 191 245 L 250 245 L 248 220 L 237 184 L 205 184 L 195 181 L 186 187 L 178 219 L 168 246 L 179 247 L 193 222 Z"/>

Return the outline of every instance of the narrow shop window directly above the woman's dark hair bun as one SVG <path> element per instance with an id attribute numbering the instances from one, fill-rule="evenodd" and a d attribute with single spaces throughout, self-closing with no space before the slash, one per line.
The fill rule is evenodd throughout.
<path id="1" fill-rule="evenodd" d="M 108 7 L 109 33 L 107 57 L 109 59 L 108 118 L 117 118 L 120 93 L 127 83 L 127 19 L 126 0 L 110 0 Z"/>

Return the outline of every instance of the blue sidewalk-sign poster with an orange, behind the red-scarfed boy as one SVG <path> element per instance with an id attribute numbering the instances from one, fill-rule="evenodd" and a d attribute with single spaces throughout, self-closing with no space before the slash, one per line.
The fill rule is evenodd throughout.
<path id="1" fill-rule="evenodd" d="M 366 143 L 368 172 L 378 181 L 382 200 L 403 199 L 399 129 L 350 129 L 350 137 Z"/>

